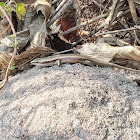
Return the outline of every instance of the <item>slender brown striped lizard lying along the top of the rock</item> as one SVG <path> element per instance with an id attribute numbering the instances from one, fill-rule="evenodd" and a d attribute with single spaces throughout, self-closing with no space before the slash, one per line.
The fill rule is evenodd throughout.
<path id="1" fill-rule="evenodd" d="M 87 57 L 80 54 L 59 54 L 59 55 L 52 55 L 44 58 L 36 58 L 31 61 L 32 65 L 39 65 L 39 66 L 53 66 L 53 65 L 59 65 L 64 63 L 81 63 L 84 65 L 94 66 L 105 66 L 105 67 L 116 67 L 119 69 L 134 71 L 134 72 L 140 72 L 140 70 L 124 67 L 118 64 L 110 63 L 110 62 L 104 62 L 97 60 L 95 58 Z"/>

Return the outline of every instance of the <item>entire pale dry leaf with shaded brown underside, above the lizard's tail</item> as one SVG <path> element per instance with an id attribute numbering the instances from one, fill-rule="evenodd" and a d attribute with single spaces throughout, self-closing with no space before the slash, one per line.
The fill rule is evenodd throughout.
<path id="1" fill-rule="evenodd" d="M 77 46 L 78 47 L 78 46 Z M 140 69 L 140 50 L 133 46 L 113 47 L 107 43 L 86 43 L 79 45 L 78 52 L 99 61 L 115 62 L 117 64 Z"/>

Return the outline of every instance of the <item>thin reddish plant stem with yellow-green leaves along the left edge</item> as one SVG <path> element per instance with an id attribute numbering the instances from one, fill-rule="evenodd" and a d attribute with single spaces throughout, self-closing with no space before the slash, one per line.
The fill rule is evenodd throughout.
<path id="1" fill-rule="evenodd" d="M 8 20 L 8 22 L 11 26 L 11 29 L 13 31 L 13 35 L 11 35 L 11 38 L 15 39 L 15 42 L 13 43 L 14 52 L 13 52 L 12 58 L 11 58 L 9 64 L 8 64 L 8 68 L 7 68 L 6 74 L 5 74 L 5 79 L 2 83 L 2 85 L 0 85 L 0 89 L 2 89 L 6 85 L 6 83 L 8 82 L 9 71 L 13 70 L 15 68 L 14 58 L 15 58 L 16 53 L 17 53 L 18 42 L 17 42 L 17 37 L 16 37 L 16 32 L 15 32 L 14 26 L 11 22 L 12 21 L 12 16 L 11 16 L 12 12 L 16 12 L 19 20 L 22 20 L 22 17 L 26 13 L 24 3 L 16 3 L 14 0 L 12 0 L 12 1 L 7 0 L 5 3 L 0 2 L 0 16 L 1 17 L 6 17 L 6 19 Z M 8 17 L 7 13 L 10 14 L 10 18 Z"/>

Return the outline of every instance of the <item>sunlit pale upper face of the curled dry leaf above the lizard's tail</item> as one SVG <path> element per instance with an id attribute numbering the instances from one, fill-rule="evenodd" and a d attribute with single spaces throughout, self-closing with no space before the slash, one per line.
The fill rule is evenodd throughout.
<path id="1" fill-rule="evenodd" d="M 120 58 L 140 61 L 140 51 L 133 46 L 113 47 L 107 43 L 86 43 L 78 50 L 81 54 L 85 54 L 106 62 L 111 61 L 117 54 Z"/>

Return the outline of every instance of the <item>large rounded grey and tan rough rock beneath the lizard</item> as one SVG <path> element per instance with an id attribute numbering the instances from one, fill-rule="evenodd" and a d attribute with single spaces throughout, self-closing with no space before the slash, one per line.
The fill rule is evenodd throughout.
<path id="1" fill-rule="evenodd" d="M 0 91 L 0 140 L 139 140 L 138 76 L 81 64 L 10 76 Z"/>

